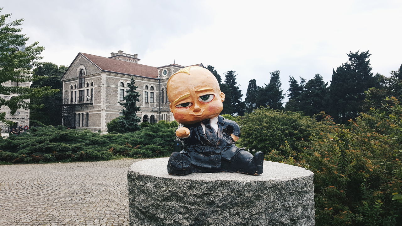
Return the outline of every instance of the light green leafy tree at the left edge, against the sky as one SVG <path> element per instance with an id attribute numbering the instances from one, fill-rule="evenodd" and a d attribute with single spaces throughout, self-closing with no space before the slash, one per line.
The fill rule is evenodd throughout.
<path id="1" fill-rule="evenodd" d="M 3 8 L 0 8 L 2 10 Z M 0 15 L 0 94 L 11 95 L 17 94 L 10 100 L 0 98 L 0 107 L 7 106 L 10 108 L 10 114 L 14 115 L 17 109 L 29 109 L 35 107 L 43 107 L 43 105 L 36 105 L 29 103 L 27 99 L 40 98 L 43 96 L 53 95 L 59 90 L 51 89 L 49 86 L 30 88 L 25 86 L 5 86 L 4 83 L 11 82 L 31 82 L 37 79 L 37 76 L 32 76 L 31 69 L 34 66 L 39 66 L 37 60 L 42 59 L 40 53 L 44 50 L 43 47 L 38 46 L 38 42 L 25 47 L 24 51 L 16 51 L 14 46 L 25 46 L 29 37 L 21 34 L 23 19 L 9 21 L 10 14 Z M 0 113 L 0 121 L 10 123 L 7 121 L 6 113 Z"/>

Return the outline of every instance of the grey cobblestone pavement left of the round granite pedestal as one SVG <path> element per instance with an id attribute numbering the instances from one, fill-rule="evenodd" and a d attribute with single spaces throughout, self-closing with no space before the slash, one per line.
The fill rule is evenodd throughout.
<path id="1" fill-rule="evenodd" d="M 0 165 L 0 225 L 128 225 L 127 171 L 139 160 Z"/>

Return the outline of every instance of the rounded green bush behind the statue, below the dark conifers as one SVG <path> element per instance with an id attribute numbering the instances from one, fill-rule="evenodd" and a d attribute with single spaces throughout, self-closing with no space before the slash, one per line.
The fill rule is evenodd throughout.
<path id="1" fill-rule="evenodd" d="M 299 152 L 307 146 L 306 142 L 314 132 L 327 127 L 324 121 L 318 123 L 312 117 L 297 112 L 270 108 L 258 108 L 238 119 L 242 125 L 239 144 L 264 153 L 281 151 L 280 147 L 285 141 Z"/>

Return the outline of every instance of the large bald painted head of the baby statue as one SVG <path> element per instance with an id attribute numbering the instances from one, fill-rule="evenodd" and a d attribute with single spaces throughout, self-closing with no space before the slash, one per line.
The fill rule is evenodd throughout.
<path id="1" fill-rule="evenodd" d="M 225 94 L 209 70 L 194 67 L 191 74 L 179 73 L 168 83 L 170 111 L 182 124 L 193 124 L 221 113 Z"/>

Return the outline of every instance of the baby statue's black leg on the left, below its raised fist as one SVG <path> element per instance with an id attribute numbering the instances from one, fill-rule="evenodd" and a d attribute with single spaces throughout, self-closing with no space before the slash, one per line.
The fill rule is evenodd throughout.
<path id="1" fill-rule="evenodd" d="M 187 175 L 191 171 L 191 160 L 186 154 L 173 152 L 168 161 L 168 173 L 170 175 Z"/>

